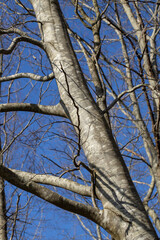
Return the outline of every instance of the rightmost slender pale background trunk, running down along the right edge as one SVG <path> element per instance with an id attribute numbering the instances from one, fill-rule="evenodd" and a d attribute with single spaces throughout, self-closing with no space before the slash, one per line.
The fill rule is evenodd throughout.
<path id="1" fill-rule="evenodd" d="M 147 34 L 146 34 L 146 29 L 144 27 L 144 23 L 143 20 L 139 14 L 138 16 L 138 20 L 139 23 L 137 21 L 137 19 L 134 17 L 134 14 L 129 6 L 128 1 L 126 0 L 121 0 L 120 1 L 124 11 L 126 13 L 126 15 L 128 16 L 128 19 L 130 20 L 130 23 L 132 24 L 133 29 L 136 32 L 137 38 L 138 38 L 138 42 L 139 42 L 139 47 L 141 49 L 141 54 L 143 55 L 143 68 L 147 74 L 148 80 L 149 80 L 149 84 L 152 87 L 152 89 L 156 90 L 158 88 L 158 74 L 156 72 L 156 68 L 155 68 L 155 64 L 153 64 L 153 62 L 151 62 L 151 55 L 153 54 L 152 51 L 155 49 L 154 44 L 155 44 L 155 39 L 154 37 L 150 37 L 150 45 L 151 45 L 151 51 L 149 53 L 149 49 L 148 49 L 148 44 L 147 44 Z M 143 29 L 143 30 L 142 30 Z M 152 53 L 152 54 L 151 54 Z M 158 89 L 157 89 L 158 90 Z M 154 118 L 155 118 L 155 126 L 157 125 L 157 121 L 159 122 L 157 116 L 159 116 L 159 97 L 157 96 L 157 92 L 156 91 L 152 91 L 152 97 L 153 97 L 153 107 L 154 107 Z M 158 123 L 159 124 L 159 123 Z M 154 131 L 157 131 L 157 129 L 155 128 Z M 153 171 L 153 175 L 155 178 L 155 183 L 156 183 L 156 187 L 157 187 L 157 192 L 158 192 L 158 196 L 159 196 L 159 201 L 160 201 L 160 154 L 159 154 L 159 133 L 156 135 L 158 136 L 158 139 L 156 139 L 156 154 L 155 154 L 155 149 L 150 149 L 150 152 L 152 153 L 153 157 L 152 157 L 152 171 Z"/>

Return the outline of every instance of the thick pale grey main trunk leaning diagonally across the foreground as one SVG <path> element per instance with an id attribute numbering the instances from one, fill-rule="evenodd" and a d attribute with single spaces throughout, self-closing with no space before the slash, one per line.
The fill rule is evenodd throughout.
<path id="1" fill-rule="evenodd" d="M 89 166 L 96 173 L 96 194 L 103 222 L 114 239 L 158 239 L 129 176 L 110 128 L 92 98 L 74 54 L 57 0 L 30 0 L 62 103 L 74 124 Z"/>

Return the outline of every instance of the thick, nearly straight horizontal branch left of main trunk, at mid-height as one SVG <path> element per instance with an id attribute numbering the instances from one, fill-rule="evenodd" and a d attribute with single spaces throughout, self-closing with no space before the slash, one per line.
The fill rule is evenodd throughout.
<path id="1" fill-rule="evenodd" d="M 46 115 L 55 115 L 67 118 L 61 101 L 57 105 L 40 105 L 33 103 L 5 103 L 0 104 L 0 112 L 25 111 L 34 112 Z"/>

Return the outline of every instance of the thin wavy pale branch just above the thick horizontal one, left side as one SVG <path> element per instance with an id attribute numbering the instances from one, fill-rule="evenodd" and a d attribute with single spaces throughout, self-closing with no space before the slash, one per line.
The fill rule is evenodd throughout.
<path id="1" fill-rule="evenodd" d="M 14 75 L 6 76 L 6 77 L 0 77 L 0 82 L 7 82 L 7 81 L 19 79 L 19 78 L 31 78 L 31 79 L 36 80 L 36 81 L 46 82 L 46 81 L 50 81 L 54 77 L 55 76 L 54 76 L 53 72 L 50 73 L 47 76 L 40 76 L 40 75 L 36 75 L 36 74 L 33 74 L 33 73 L 16 73 Z"/>

